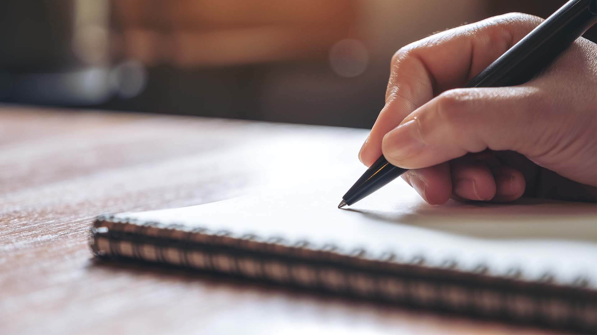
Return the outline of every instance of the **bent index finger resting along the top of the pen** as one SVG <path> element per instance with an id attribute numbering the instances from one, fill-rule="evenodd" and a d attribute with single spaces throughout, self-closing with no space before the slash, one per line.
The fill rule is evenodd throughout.
<path id="1" fill-rule="evenodd" d="M 447 89 L 464 86 L 541 22 L 510 13 L 446 30 L 399 49 L 392 57 L 386 105 L 359 159 L 370 166 L 381 156 L 381 140 L 408 114 Z"/>

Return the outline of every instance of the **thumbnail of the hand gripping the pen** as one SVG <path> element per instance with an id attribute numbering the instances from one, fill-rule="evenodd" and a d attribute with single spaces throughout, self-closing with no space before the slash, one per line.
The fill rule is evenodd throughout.
<path id="1" fill-rule="evenodd" d="M 384 154 L 395 160 L 402 160 L 423 150 L 421 134 L 418 132 L 417 120 L 411 120 L 390 131 L 384 137 Z"/>

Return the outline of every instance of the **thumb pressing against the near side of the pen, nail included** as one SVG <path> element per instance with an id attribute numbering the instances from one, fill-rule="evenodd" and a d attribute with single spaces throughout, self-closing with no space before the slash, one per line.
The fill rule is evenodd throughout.
<path id="1" fill-rule="evenodd" d="M 384 136 L 383 155 L 393 165 L 419 169 L 487 148 L 540 154 L 549 148 L 538 142 L 553 131 L 541 95 L 530 86 L 446 91 Z"/>

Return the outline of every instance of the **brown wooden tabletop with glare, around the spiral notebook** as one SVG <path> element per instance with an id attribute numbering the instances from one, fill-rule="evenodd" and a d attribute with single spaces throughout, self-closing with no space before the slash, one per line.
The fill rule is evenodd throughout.
<path id="1" fill-rule="evenodd" d="M 366 131 L 0 108 L 0 334 L 541 333 L 493 321 L 92 258 L 101 213 L 221 200 L 260 183 L 260 142 Z M 356 150 L 358 147 L 350 148 Z M 232 164 L 230 164 L 232 163 Z"/>

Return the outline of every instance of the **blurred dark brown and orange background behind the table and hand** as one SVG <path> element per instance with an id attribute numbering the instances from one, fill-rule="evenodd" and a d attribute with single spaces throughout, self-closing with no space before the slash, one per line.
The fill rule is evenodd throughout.
<path id="1" fill-rule="evenodd" d="M 2 0 L 0 103 L 370 128 L 401 46 L 564 2 Z"/>

